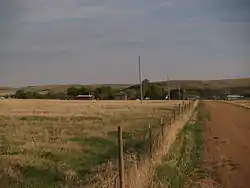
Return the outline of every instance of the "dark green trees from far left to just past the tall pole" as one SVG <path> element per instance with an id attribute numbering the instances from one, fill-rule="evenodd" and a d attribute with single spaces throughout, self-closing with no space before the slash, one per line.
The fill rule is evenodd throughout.
<path id="1" fill-rule="evenodd" d="M 164 88 L 155 84 L 151 84 L 148 79 L 143 80 L 143 97 L 150 98 L 152 100 L 165 99 L 167 91 Z M 140 87 L 132 88 L 128 90 L 117 90 L 109 86 L 101 86 L 94 89 L 87 87 L 70 87 L 66 92 L 48 91 L 46 94 L 42 94 L 37 91 L 25 91 L 23 89 L 18 90 L 13 97 L 18 99 L 62 99 L 70 100 L 75 99 L 78 95 L 92 94 L 95 99 L 99 100 L 115 100 L 124 99 L 138 99 L 140 98 Z"/>

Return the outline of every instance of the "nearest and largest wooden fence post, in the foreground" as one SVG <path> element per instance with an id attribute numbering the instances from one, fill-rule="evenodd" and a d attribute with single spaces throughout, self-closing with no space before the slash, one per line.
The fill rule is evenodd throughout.
<path id="1" fill-rule="evenodd" d="M 119 151 L 119 180 L 120 188 L 125 188 L 124 182 L 124 159 L 123 159 L 123 140 L 122 140 L 122 128 L 118 126 L 118 151 Z"/>

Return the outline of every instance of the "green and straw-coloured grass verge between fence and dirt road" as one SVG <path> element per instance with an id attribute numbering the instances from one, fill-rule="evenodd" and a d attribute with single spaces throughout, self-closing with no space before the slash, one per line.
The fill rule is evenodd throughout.
<path id="1" fill-rule="evenodd" d="M 203 104 L 196 108 L 195 122 L 188 122 L 172 145 L 169 155 L 162 160 L 155 174 L 155 187 L 181 188 L 190 179 L 205 178 L 207 170 L 202 167 L 204 153 L 204 122 L 210 119 Z M 193 187 L 193 186 L 192 186 Z"/>

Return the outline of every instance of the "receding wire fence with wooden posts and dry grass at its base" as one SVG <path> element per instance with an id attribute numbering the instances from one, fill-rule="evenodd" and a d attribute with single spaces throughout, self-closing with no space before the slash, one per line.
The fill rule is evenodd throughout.
<path id="1" fill-rule="evenodd" d="M 143 138 L 141 143 L 143 146 L 138 148 L 143 150 L 135 151 L 136 154 L 131 154 L 125 152 L 125 150 L 133 150 L 135 147 L 127 145 L 127 140 L 124 137 L 127 135 L 126 132 L 122 130 L 121 126 L 117 127 L 117 153 L 118 153 L 118 161 L 117 164 L 110 163 L 110 165 L 106 165 L 103 167 L 104 173 L 101 175 L 98 174 L 95 177 L 95 181 L 93 184 L 98 188 L 127 188 L 127 187 L 138 187 L 138 185 L 131 186 L 131 174 L 128 175 L 128 172 L 131 168 L 136 168 L 137 165 L 141 161 L 145 161 L 144 159 L 152 159 L 154 154 L 159 150 L 163 149 L 166 135 L 171 127 L 177 120 L 181 119 L 183 115 L 188 114 L 194 108 L 194 101 L 188 100 L 184 101 L 174 108 L 172 108 L 167 114 L 166 118 L 161 118 L 159 120 L 159 126 L 157 129 L 152 125 L 148 124 L 143 131 Z M 138 143 L 137 143 L 138 144 Z M 131 148 L 129 148 L 131 147 Z M 143 173 L 143 172 L 138 172 Z M 96 179 L 98 179 L 96 181 Z M 98 182 L 98 183 L 97 183 Z"/>

